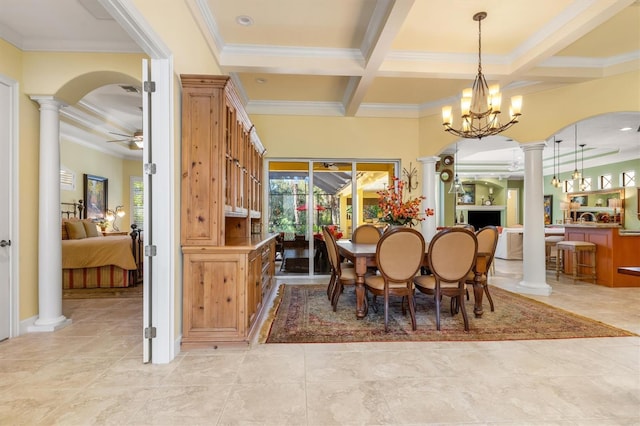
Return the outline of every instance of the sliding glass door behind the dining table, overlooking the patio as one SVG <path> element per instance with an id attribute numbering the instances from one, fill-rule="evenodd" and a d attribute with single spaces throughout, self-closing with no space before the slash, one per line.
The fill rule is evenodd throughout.
<path id="1" fill-rule="evenodd" d="M 268 160 L 268 231 L 277 233 L 277 274 L 330 273 L 322 226 L 351 238 L 362 223 L 378 223 L 377 191 L 399 161 Z M 382 224 L 380 224 L 382 226 Z"/>

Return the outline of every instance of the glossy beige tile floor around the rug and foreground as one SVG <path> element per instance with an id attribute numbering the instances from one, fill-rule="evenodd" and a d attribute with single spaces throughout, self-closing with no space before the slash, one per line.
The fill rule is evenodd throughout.
<path id="1" fill-rule="evenodd" d="M 497 260 L 491 283 L 520 278 Z M 640 333 L 640 288 L 536 297 Z M 65 300 L 73 324 L 0 343 L 0 425 L 638 425 L 640 337 L 255 345 L 141 363 L 141 301 Z"/>

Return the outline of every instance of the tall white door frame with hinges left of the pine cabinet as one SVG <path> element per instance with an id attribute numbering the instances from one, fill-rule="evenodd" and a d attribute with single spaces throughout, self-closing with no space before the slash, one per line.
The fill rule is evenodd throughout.
<path id="1" fill-rule="evenodd" d="M 156 328 L 156 337 L 151 340 L 151 362 L 167 364 L 180 352 L 180 339 L 176 338 L 176 280 L 180 275 L 176 270 L 178 236 L 176 235 L 176 214 L 174 174 L 176 170 L 174 138 L 174 79 L 173 55 L 162 39 L 155 33 L 144 16 L 130 0 L 99 0 L 100 4 L 120 24 L 129 36 L 149 56 L 151 78 L 155 82 L 155 92 L 151 100 L 149 114 L 149 157 L 145 161 L 156 166 L 153 174 L 152 206 L 145 206 L 145 227 L 143 230 L 145 249 L 155 246 L 157 254 L 145 253 L 144 283 L 153 292 L 143 297 L 145 309 L 149 309 L 150 324 Z M 143 114 L 146 112 L 143 111 Z M 147 144 L 145 144 L 145 149 Z M 145 180 L 146 182 L 146 180 Z M 167 190 L 168 189 L 168 190 Z M 145 192 L 147 191 L 145 185 Z M 146 195 L 145 195 L 145 198 Z M 154 224 L 158 232 L 154 232 Z M 146 250 L 145 250 L 146 252 Z M 178 312 L 179 314 L 179 312 Z M 144 344 L 144 330 L 141 333 Z"/>

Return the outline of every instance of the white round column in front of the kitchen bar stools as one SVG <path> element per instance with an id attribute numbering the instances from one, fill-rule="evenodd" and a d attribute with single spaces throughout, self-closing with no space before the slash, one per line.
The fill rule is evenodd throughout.
<path id="1" fill-rule="evenodd" d="M 514 291 L 549 296 L 544 257 L 544 200 L 542 150 L 544 143 L 523 145 L 524 151 L 524 241 L 522 248 L 522 281 Z"/>

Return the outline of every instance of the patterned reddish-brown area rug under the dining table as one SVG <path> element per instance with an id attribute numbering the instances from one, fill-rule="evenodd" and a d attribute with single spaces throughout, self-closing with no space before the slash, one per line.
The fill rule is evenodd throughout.
<path id="1" fill-rule="evenodd" d="M 272 315 L 265 322 L 266 343 L 347 343 L 387 341 L 497 341 L 532 339 L 570 339 L 585 337 L 635 336 L 607 324 L 554 308 L 542 302 L 490 287 L 495 304 L 491 312 L 484 299 L 484 314 L 475 318 L 473 293 L 465 303 L 469 332 L 464 331 L 462 315 L 451 316 L 449 299 L 444 298 L 436 330 L 433 297 L 418 294 L 416 319 L 411 330 L 409 314 L 402 315 L 399 298 L 389 304 L 389 332 L 384 331 L 384 302 L 378 297 L 378 312 L 369 306 L 363 319 L 356 319 L 355 291 L 347 287 L 336 312 L 331 309 L 326 286 L 283 284 L 278 289 Z M 272 320 L 272 321 L 271 321 Z"/>

